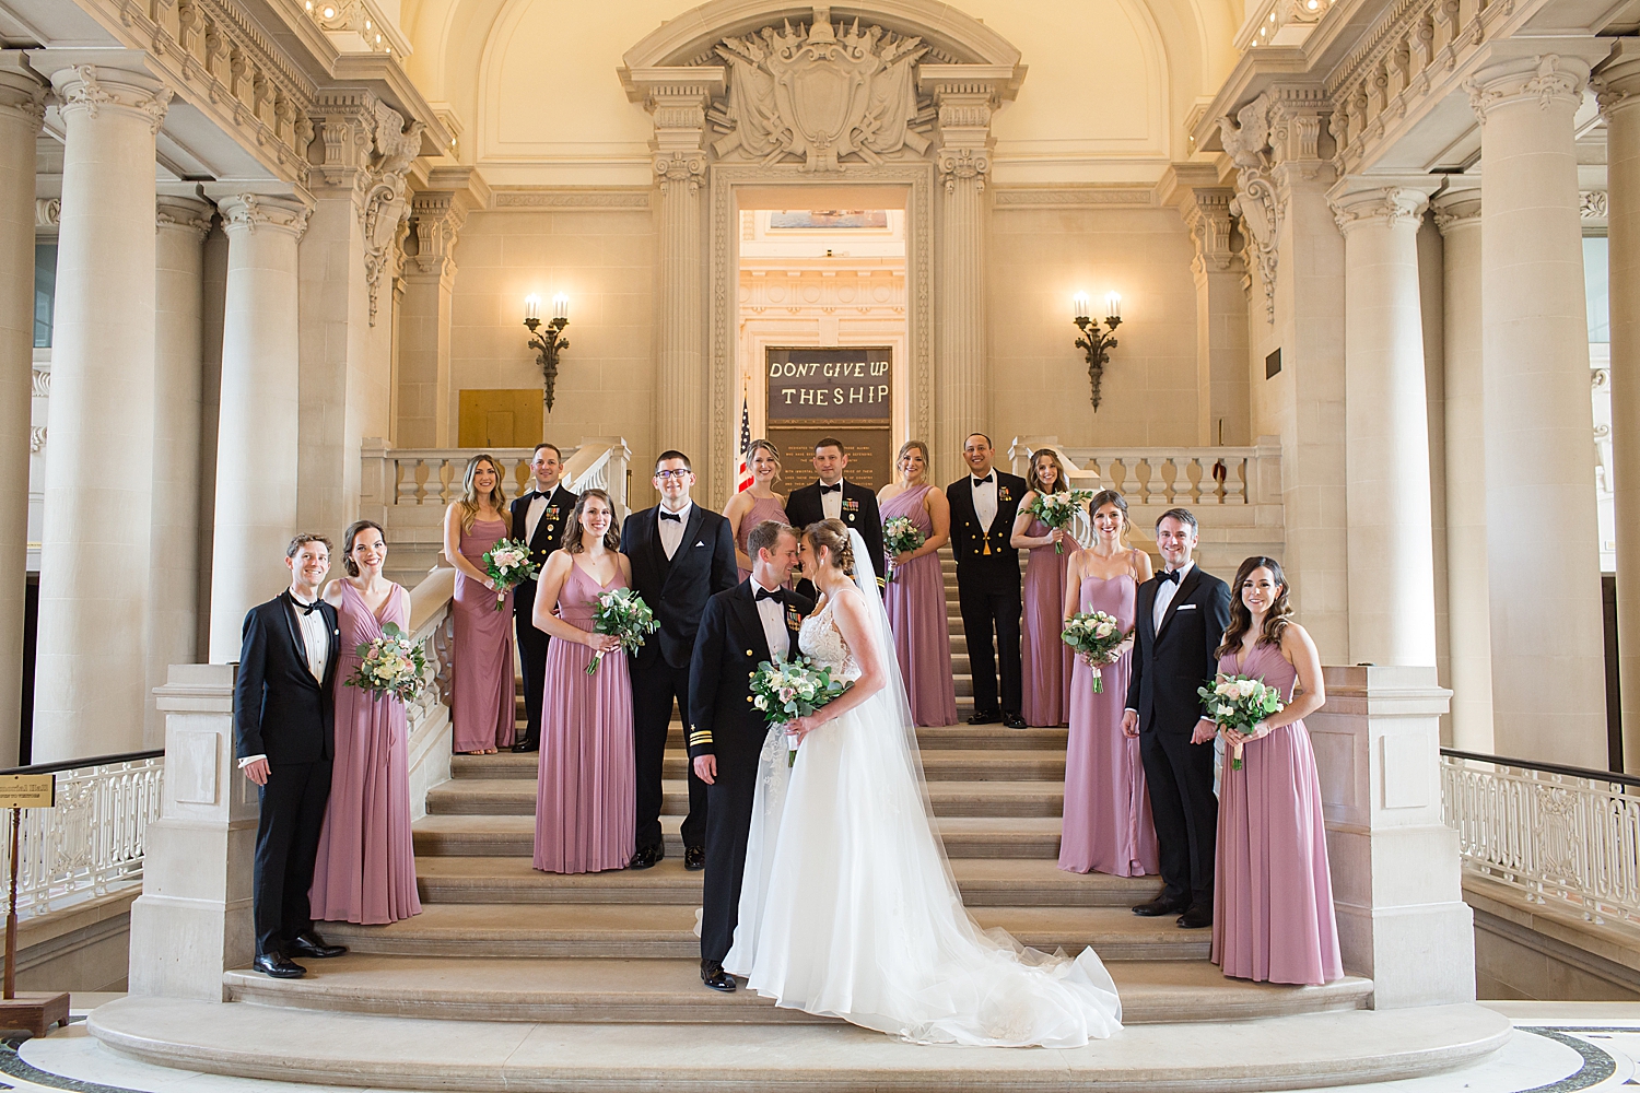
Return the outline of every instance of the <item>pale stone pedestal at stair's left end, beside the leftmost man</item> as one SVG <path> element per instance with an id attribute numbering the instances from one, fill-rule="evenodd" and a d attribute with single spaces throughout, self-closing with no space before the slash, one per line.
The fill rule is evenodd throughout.
<path id="1" fill-rule="evenodd" d="M 223 1001 L 223 972 L 254 955 L 257 803 L 233 754 L 233 673 L 228 664 L 174 664 L 156 688 L 166 790 L 131 905 L 133 995 Z"/>

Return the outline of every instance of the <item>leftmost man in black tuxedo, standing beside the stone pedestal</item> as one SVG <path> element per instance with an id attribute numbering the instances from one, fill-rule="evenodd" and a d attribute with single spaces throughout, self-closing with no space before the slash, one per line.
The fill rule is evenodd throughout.
<path id="1" fill-rule="evenodd" d="M 290 957 L 339 957 L 313 932 L 308 888 L 335 759 L 331 683 L 341 652 L 336 608 L 320 600 L 330 539 L 302 534 L 285 549 L 290 588 L 244 615 L 233 685 L 235 752 L 261 787 L 251 903 L 257 972 L 307 973 Z"/>

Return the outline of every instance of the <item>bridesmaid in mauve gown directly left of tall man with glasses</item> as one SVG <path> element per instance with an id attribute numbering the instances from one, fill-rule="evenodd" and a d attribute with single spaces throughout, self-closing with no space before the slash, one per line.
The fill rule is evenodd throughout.
<path id="1" fill-rule="evenodd" d="M 592 631 L 599 595 L 630 587 L 615 506 L 604 490 L 585 490 L 564 549 L 541 572 L 531 616 L 553 636 L 535 801 L 535 867 L 548 873 L 595 873 L 631 860 L 638 775 L 626 652 L 620 639 Z M 587 675 L 600 652 L 604 660 Z"/>

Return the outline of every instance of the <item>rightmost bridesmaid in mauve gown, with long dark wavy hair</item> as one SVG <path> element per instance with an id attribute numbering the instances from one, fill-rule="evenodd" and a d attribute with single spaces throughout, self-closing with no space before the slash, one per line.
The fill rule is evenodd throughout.
<path id="1" fill-rule="evenodd" d="M 1212 960 L 1235 978 L 1328 983 L 1343 977 L 1343 964 L 1322 785 L 1304 728 L 1327 701 L 1322 659 L 1292 621 L 1279 562 L 1246 559 L 1230 595 L 1220 675 L 1263 678 L 1287 705 L 1246 736 L 1225 732 Z M 1241 770 L 1230 762 L 1237 742 Z"/>

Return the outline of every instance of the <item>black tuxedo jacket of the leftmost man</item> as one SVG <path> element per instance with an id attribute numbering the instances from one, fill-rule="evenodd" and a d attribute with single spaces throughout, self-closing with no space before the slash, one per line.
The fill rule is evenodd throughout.
<path id="1" fill-rule="evenodd" d="M 336 751 L 331 698 L 341 657 L 336 608 L 320 601 L 320 613 L 330 626 L 330 655 L 325 678 L 315 680 L 290 603 L 285 592 L 244 613 L 239 675 L 233 685 L 238 757 L 267 755 L 269 765 L 276 767 L 330 760 Z"/>

